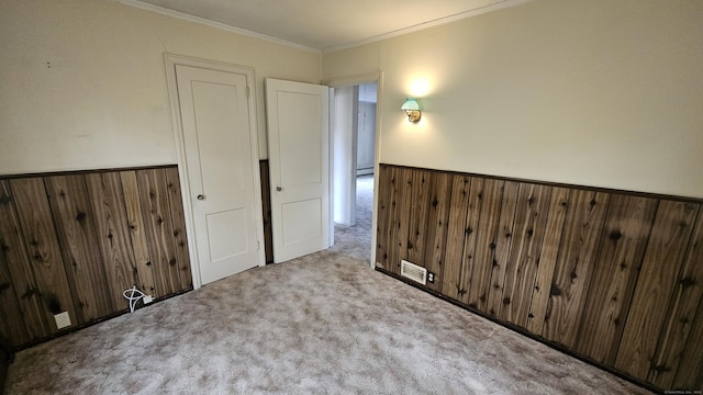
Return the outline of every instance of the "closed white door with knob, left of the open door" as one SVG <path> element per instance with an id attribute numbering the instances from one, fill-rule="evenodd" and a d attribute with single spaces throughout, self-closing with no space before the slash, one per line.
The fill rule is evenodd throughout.
<path id="1" fill-rule="evenodd" d="M 254 103 L 244 74 L 175 69 L 189 189 L 185 199 L 190 199 L 200 279 L 207 284 L 260 261 Z"/>

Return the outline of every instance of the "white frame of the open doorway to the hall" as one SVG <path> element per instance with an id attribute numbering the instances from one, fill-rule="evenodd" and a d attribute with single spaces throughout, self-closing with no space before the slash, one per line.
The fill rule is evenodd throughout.
<path id="1" fill-rule="evenodd" d="M 330 88 L 342 88 L 348 86 L 357 86 L 364 83 L 376 82 L 376 147 L 373 153 L 373 207 L 371 210 L 371 261 L 369 262 L 371 269 L 376 269 L 376 242 L 377 242 L 377 232 L 378 228 L 378 171 L 379 163 L 381 159 L 381 106 L 382 106 L 382 92 L 383 92 L 383 71 L 372 71 L 353 76 L 330 78 L 322 81 L 322 84 L 325 84 Z M 332 119 L 332 116 L 330 116 Z M 333 151 L 334 142 L 330 139 L 330 150 Z M 331 184 L 332 181 L 330 180 Z"/>

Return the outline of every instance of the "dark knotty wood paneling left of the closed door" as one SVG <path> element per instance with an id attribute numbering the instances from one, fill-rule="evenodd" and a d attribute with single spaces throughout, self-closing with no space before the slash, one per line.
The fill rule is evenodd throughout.
<path id="1" fill-rule="evenodd" d="M 126 311 L 135 284 L 192 289 L 175 166 L 0 179 L 0 335 L 16 348 Z"/>

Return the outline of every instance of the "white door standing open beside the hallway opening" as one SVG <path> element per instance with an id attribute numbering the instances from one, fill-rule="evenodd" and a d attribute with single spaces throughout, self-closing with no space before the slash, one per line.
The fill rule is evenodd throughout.
<path id="1" fill-rule="evenodd" d="M 330 247 L 330 89 L 266 79 L 274 261 Z"/>

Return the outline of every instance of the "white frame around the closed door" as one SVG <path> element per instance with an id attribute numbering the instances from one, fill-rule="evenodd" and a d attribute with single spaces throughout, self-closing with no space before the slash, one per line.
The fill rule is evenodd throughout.
<path id="1" fill-rule="evenodd" d="M 202 286 L 202 276 L 200 273 L 200 260 L 198 255 L 198 245 L 196 244 L 196 222 L 191 205 L 190 179 L 188 177 L 188 161 L 186 160 L 186 143 L 183 137 L 183 126 L 181 124 L 180 101 L 178 99 L 178 86 L 176 81 L 176 66 L 190 66 L 208 70 L 225 71 L 232 74 L 244 75 L 246 77 L 246 86 L 248 89 L 247 104 L 249 115 L 249 139 L 252 150 L 252 172 L 254 189 L 254 222 L 256 223 L 256 238 L 258 241 L 258 266 L 266 264 L 264 256 L 264 208 L 261 206 L 261 184 L 259 169 L 259 147 L 258 147 L 258 127 L 256 120 L 256 89 L 254 69 L 246 66 L 231 65 L 221 61 L 193 58 L 188 56 L 164 54 L 164 64 L 166 66 L 166 83 L 168 86 L 168 99 L 171 109 L 171 122 L 174 125 L 174 138 L 176 140 L 176 154 L 178 160 L 178 174 L 180 177 L 180 190 L 183 204 L 183 215 L 186 217 L 186 234 L 188 239 L 188 255 L 190 257 L 190 266 L 193 280 L 193 289 Z"/>

